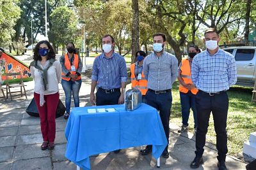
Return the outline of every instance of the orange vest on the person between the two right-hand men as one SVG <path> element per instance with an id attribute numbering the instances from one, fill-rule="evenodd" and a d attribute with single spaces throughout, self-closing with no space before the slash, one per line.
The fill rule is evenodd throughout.
<path id="1" fill-rule="evenodd" d="M 180 71 L 181 71 L 181 75 L 180 76 L 183 79 L 184 83 L 192 84 L 193 82 L 191 80 L 191 67 L 190 67 L 188 59 L 184 59 L 184 60 L 181 61 Z M 180 90 L 180 92 L 188 93 L 188 89 L 183 87 L 181 84 L 179 85 L 179 90 Z M 193 89 L 191 89 L 191 92 L 193 94 L 196 94 L 198 92 L 198 89 L 193 88 Z"/>

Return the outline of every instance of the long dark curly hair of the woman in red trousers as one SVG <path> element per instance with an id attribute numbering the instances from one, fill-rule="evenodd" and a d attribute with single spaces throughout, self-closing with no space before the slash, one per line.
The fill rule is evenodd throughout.
<path id="1" fill-rule="evenodd" d="M 36 44 L 36 46 L 35 46 L 35 48 L 34 48 L 34 56 L 33 56 L 33 59 L 34 59 L 34 60 L 42 60 L 42 57 L 41 57 L 41 56 L 39 55 L 39 53 L 38 53 L 39 46 L 40 46 L 41 44 L 45 44 L 45 45 L 47 45 L 48 48 L 49 48 L 49 52 L 48 52 L 48 55 L 47 55 L 47 60 L 49 60 L 49 59 L 55 59 L 56 55 L 55 55 L 55 52 L 54 52 L 54 50 L 53 50 L 53 48 L 52 48 L 52 45 L 49 43 L 49 41 L 46 41 L 46 40 L 39 41 L 39 42 Z"/>

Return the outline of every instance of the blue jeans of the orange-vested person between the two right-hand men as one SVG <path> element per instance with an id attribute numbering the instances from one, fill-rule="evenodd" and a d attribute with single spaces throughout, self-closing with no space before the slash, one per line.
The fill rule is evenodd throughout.
<path id="1" fill-rule="evenodd" d="M 188 125 L 188 118 L 190 108 L 193 111 L 194 115 L 194 127 L 197 127 L 197 113 L 196 113 L 196 104 L 195 104 L 196 95 L 191 93 L 189 90 L 188 93 L 180 92 L 180 104 L 181 104 L 181 113 L 182 113 L 182 124 Z"/>

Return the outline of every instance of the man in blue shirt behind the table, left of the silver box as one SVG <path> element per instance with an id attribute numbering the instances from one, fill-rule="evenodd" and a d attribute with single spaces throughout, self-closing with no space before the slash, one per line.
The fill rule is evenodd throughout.
<path id="1" fill-rule="evenodd" d="M 104 52 L 93 62 L 90 101 L 93 105 L 124 104 L 127 69 L 122 55 L 115 53 L 115 40 L 107 34 L 102 38 Z M 96 99 L 95 87 L 98 87 Z M 120 91 L 120 88 L 122 90 Z"/>

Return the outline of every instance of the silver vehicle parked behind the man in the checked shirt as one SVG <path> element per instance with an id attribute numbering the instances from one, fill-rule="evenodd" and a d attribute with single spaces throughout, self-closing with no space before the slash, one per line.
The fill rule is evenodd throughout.
<path id="1" fill-rule="evenodd" d="M 253 87 L 256 80 L 256 46 L 236 46 L 223 50 L 234 55 L 236 59 L 236 85 Z"/>

